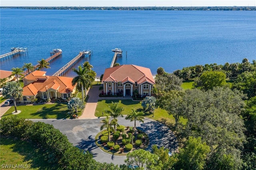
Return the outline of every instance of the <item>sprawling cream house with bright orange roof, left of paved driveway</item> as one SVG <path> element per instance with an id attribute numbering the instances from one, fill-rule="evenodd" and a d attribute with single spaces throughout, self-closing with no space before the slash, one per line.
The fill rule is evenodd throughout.
<path id="1" fill-rule="evenodd" d="M 30 102 L 31 99 L 67 99 L 76 91 L 70 77 L 46 76 L 46 71 L 34 71 L 23 78 L 23 96 L 21 102 Z"/>

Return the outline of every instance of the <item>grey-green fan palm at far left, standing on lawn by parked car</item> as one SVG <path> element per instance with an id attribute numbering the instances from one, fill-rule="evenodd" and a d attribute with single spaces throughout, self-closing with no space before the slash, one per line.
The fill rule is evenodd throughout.
<path id="1" fill-rule="evenodd" d="M 20 84 L 15 81 L 9 81 L 3 87 L 3 96 L 6 98 L 13 97 L 15 113 L 18 112 L 15 100 L 22 96 L 22 91 L 23 89 L 20 87 Z"/>

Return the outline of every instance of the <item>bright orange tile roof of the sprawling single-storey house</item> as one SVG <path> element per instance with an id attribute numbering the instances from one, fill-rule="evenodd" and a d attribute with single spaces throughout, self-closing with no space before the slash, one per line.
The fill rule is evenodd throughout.
<path id="1" fill-rule="evenodd" d="M 54 90 L 58 89 L 59 93 L 71 93 L 73 89 L 76 87 L 76 85 L 72 86 L 73 78 L 71 77 L 44 76 L 47 79 L 40 79 L 40 78 L 38 79 L 38 77 L 42 77 L 42 76 L 34 76 L 34 77 L 32 76 L 30 76 L 29 78 L 33 80 L 36 77 L 36 81 L 23 87 L 23 96 L 37 94 L 38 92 L 44 92 L 44 91 L 47 91 L 48 89 L 54 89 Z"/>

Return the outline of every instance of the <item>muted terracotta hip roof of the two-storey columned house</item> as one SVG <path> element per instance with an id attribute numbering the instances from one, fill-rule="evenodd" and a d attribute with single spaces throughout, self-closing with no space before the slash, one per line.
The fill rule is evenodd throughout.
<path id="1" fill-rule="evenodd" d="M 140 67 L 137 65 L 119 65 L 112 68 L 105 69 L 104 76 L 102 77 L 102 82 L 114 81 L 114 82 L 125 82 L 128 79 L 131 82 L 137 81 L 155 84 L 154 77 L 149 68 Z"/>

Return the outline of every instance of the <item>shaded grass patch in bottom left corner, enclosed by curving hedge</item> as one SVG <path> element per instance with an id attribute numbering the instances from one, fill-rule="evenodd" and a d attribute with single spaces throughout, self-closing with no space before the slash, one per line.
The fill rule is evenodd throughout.
<path id="1" fill-rule="evenodd" d="M 44 154 L 33 143 L 25 142 L 23 140 L 14 140 L 12 138 L 4 138 L 1 136 L 1 166 L 16 164 L 23 166 L 26 169 L 33 170 L 55 170 L 56 166 L 51 166 L 44 160 Z M 22 168 L 6 168 L 6 169 L 22 169 Z"/>

